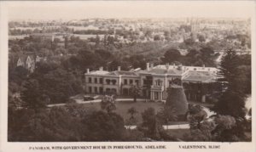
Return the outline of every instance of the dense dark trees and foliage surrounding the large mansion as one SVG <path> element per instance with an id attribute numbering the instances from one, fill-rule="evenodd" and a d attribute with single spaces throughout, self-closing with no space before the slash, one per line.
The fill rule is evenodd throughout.
<path id="1" fill-rule="evenodd" d="M 180 30 L 190 31 L 186 25 Z M 71 96 L 81 93 L 86 69 L 97 70 L 102 65 L 104 70 L 117 70 L 118 66 L 122 70 L 145 69 L 147 62 L 218 66 L 215 59 L 219 53 L 214 51 L 230 47 L 229 42 L 206 42 L 204 36 L 198 36 L 199 42 L 191 38 L 171 42 L 174 32 L 165 31 L 164 38 L 153 37 L 153 32 L 148 29 L 142 29 L 145 36 L 139 38 L 153 37 L 153 42 L 133 41 L 138 38 L 138 33 L 133 31 L 116 31 L 120 36 L 130 38 L 131 43 L 119 43 L 116 37 L 107 36 L 113 34 L 113 30 L 73 31 L 62 27 L 55 31 L 106 35 L 102 41 L 99 36 L 85 41 L 70 37 L 65 40 L 64 47 L 59 46 L 58 38 L 51 41 L 25 37 L 9 41 L 9 141 L 177 141 L 162 127 L 170 121 L 177 121 L 177 111 L 170 106 L 158 113 L 153 108 L 142 114 L 137 114 L 136 107 L 129 109 L 131 125 L 136 121 L 134 115 L 143 117 L 143 123 L 130 130 L 125 129 L 123 118 L 114 113 L 116 107 L 110 96 L 102 99 L 102 110 L 106 112 L 87 110 L 79 104 L 53 108 L 48 108 L 47 104 L 68 103 Z M 35 32 L 40 30 L 10 31 L 13 35 Z M 242 45 L 247 44 L 248 37 L 238 38 Z M 95 42 L 95 45 L 90 42 Z M 186 53 L 182 53 L 183 50 Z M 24 67 L 16 67 L 17 59 L 28 55 L 42 58 L 32 73 Z M 186 140 L 247 141 L 244 132 L 250 131 L 247 128 L 251 124 L 244 117 L 246 94 L 251 93 L 251 55 L 228 51 L 220 70 L 222 79 L 219 82 L 224 84 L 224 92 L 218 90 L 221 94 L 214 108 L 217 115 L 210 121 L 201 107 L 190 107 L 187 116 L 190 134 Z M 136 102 L 141 88 L 134 86 L 130 91 Z"/>

